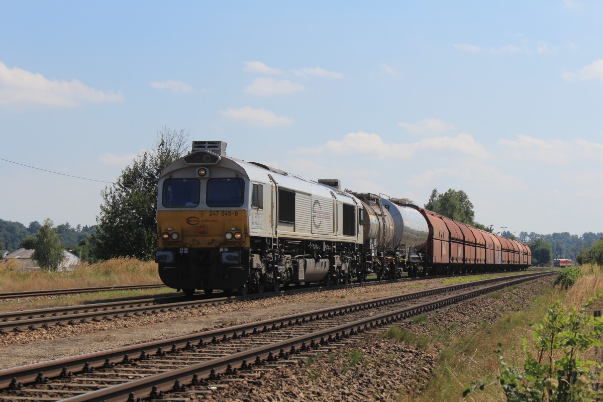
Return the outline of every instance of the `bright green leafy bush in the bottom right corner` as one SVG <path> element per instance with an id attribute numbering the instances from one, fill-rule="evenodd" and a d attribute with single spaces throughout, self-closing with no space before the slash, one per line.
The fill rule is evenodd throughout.
<path id="1" fill-rule="evenodd" d="M 595 401 L 596 394 L 591 384 L 601 380 L 603 363 L 583 360 L 587 350 L 601 347 L 603 319 L 595 318 L 587 309 L 601 297 L 596 297 L 579 310 L 568 310 L 558 300 L 545 318 L 532 324 L 537 356 L 528 347 L 523 337 L 523 354 L 526 357 L 522 369 L 512 368 L 502 357 L 501 344 L 496 351 L 500 374 L 497 379 L 510 402 L 569 402 Z M 485 380 L 477 380 L 463 391 L 466 397 L 470 392 L 484 389 Z"/>

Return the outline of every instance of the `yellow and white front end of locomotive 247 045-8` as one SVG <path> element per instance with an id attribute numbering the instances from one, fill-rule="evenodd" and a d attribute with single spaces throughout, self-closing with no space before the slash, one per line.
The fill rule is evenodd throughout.
<path id="1" fill-rule="evenodd" d="M 159 179 L 155 262 L 166 286 L 238 289 L 250 272 L 249 180 L 224 142 L 194 142 Z"/>

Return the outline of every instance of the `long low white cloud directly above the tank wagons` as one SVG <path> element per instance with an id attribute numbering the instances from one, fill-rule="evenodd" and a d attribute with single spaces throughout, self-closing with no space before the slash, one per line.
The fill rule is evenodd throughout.
<path id="1" fill-rule="evenodd" d="M 363 131 L 346 134 L 341 141 L 329 140 L 317 148 L 301 148 L 299 151 L 310 154 L 327 152 L 329 154 L 375 154 L 384 158 L 409 159 L 425 149 L 452 149 L 460 154 L 474 157 L 486 157 L 488 151 L 479 145 L 469 134 L 461 133 L 456 137 L 433 137 L 414 143 L 385 142 L 379 134 Z"/>

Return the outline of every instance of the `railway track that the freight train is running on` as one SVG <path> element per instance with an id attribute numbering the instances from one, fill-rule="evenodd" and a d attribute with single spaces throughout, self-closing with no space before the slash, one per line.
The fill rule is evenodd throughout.
<path id="1" fill-rule="evenodd" d="M 458 276 L 458 275 L 447 275 Z M 445 278 L 447 276 L 438 276 Z M 402 278 L 397 281 L 426 280 L 436 277 Z M 264 294 L 251 294 L 245 296 L 226 296 L 223 292 L 209 295 L 195 295 L 194 297 L 162 297 L 146 298 L 125 301 L 114 301 L 110 303 L 81 304 L 78 306 L 50 307 L 46 309 L 21 310 L 13 312 L 0 312 L 0 334 L 10 332 L 20 333 L 24 331 L 35 331 L 39 328 L 51 326 L 77 325 L 86 322 L 109 321 L 111 319 L 127 319 L 130 316 L 152 315 L 158 312 L 201 309 L 208 304 L 230 303 L 235 300 L 250 300 L 257 298 L 275 297 L 282 294 L 295 294 L 301 292 L 314 292 L 321 289 L 341 289 L 343 287 L 364 287 L 371 284 L 384 283 L 384 281 L 365 281 L 340 286 L 327 287 L 305 287 L 300 286 L 292 289 L 283 289 L 279 292 L 267 292 Z M 217 298 L 215 296 L 218 296 Z"/>

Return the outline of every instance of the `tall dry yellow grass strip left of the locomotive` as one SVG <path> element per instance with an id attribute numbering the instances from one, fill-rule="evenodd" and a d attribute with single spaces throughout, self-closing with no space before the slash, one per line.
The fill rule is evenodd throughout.
<path id="1" fill-rule="evenodd" d="M 72 272 L 22 271 L 8 260 L 0 263 L 0 292 L 39 291 L 69 287 L 119 286 L 160 283 L 157 264 L 120 257 L 94 264 L 82 263 Z"/>

